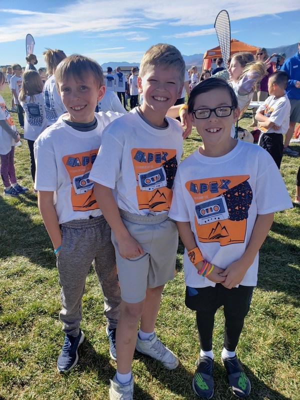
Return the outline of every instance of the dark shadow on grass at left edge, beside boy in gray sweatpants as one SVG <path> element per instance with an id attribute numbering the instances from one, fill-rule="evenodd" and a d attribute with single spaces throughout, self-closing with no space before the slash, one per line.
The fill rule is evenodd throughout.
<path id="1" fill-rule="evenodd" d="M 34 221 L 38 215 L 36 194 L 28 191 L 7 199 L 0 196 L 0 212 L 0 257 L 24 256 L 44 268 L 55 267 L 45 227 L 40 220 Z"/>

